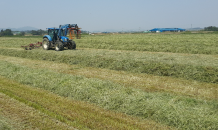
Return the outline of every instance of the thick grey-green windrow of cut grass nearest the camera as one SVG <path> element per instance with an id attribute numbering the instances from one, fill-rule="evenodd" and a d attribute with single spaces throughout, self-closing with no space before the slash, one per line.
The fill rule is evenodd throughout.
<path id="1" fill-rule="evenodd" d="M 167 93 L 148 93 L 109 81 L 46 69 L 31 69 L 4 61 L 0 62 L 0 72 L 0 75 L 23 84 L 176 128 L 218 128 L 217 101 L 197 100 Z"/>

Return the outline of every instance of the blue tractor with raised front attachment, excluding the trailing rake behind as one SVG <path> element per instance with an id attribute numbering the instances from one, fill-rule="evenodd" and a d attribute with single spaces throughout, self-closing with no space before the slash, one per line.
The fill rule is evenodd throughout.
<path id="1" fill-rule="evenodd" d="M 60 25 L 59 28 L 48 28 L 48 35 L 43 36 L 42 48 L 44 50 L 49 50 L 54 48 L 55 51 L 62 51 L 64 47 L 68 49 L 76 49 L 76 43 L 73 41 L 71 32 L 74 30 L 78 34 L 81 32 L 77 24 L 65 24 Z M 67 37 L 67 33 L 70 33 L 71 39 Z"/>

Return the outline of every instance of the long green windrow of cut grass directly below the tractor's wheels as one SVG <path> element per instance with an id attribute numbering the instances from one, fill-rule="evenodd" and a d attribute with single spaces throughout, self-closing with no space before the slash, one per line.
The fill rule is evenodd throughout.
<path id="1" fill-rule="evenodd" d="M 0 48 L 0 54 L 218 83 L 218 60 L 216 56 L 179 55 L 177 57 L 173 54 L 155 55 L 107 50 L 65 50 L 57 53 L 52 50 L 25 51 L 2 48 Z"/>

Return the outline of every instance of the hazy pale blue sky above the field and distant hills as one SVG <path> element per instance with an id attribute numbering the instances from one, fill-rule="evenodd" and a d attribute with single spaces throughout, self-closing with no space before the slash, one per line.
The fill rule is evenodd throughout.
<path id="1" fill-rule="evenodd" d="M 83 30 L 218 27 L 218 0 L 0 0 L 0 28 Z"/>

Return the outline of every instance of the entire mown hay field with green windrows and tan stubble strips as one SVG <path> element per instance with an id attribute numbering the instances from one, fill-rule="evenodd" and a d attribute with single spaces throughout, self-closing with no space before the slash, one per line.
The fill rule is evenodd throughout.
<path id="1" fill-rule="evenodd" d="M 218 129 L 218 34 L 0 37 L 0 129 Z"/>

